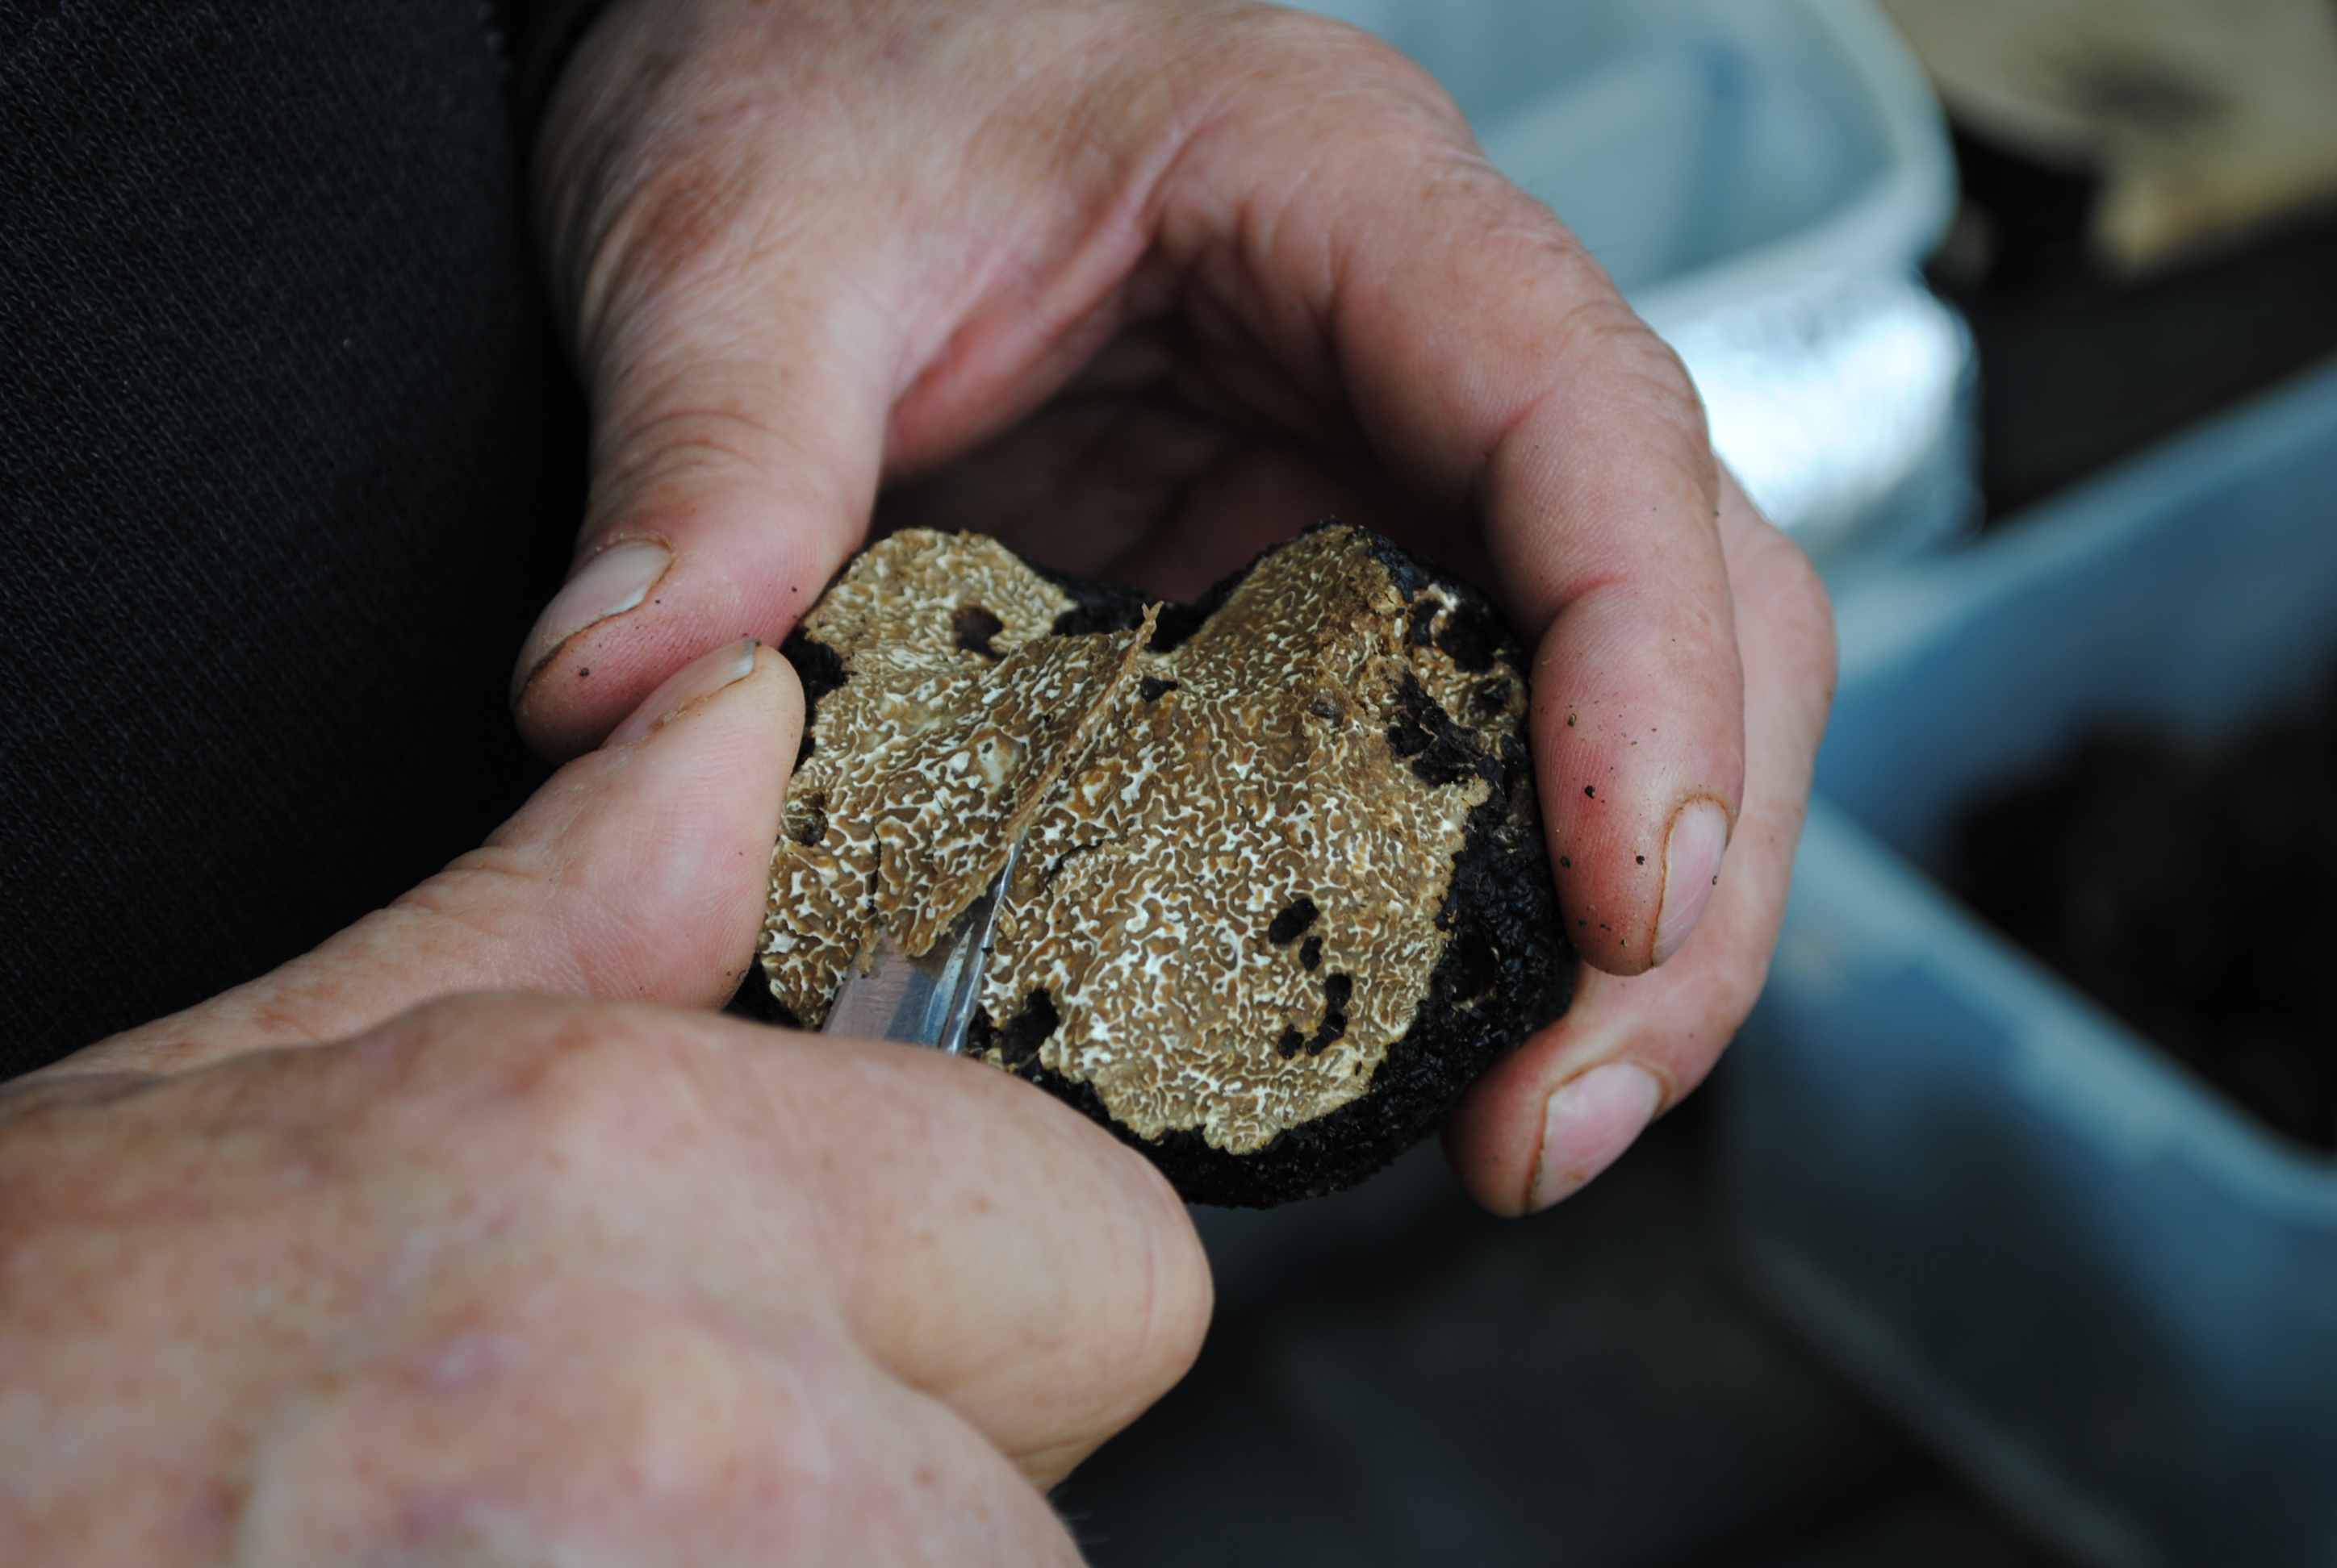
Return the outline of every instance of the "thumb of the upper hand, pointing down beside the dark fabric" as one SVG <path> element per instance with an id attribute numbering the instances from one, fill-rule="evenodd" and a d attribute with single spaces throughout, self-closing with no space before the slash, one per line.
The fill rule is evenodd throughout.
<path id="1" fill-rule="evenodd" d="M 554 250 L 591 257 L 568 290 L 587 516 L 512 673 L 519 727 L 549 757 L 710 647 L 776 645 L 867 528 L 900 353 L 869 285 L 879 241 L 813 222 L 837 206 L 816 180 L 760 192 L 762 152 L 755 129 L 659 143 L 638 157 L 654 173 L 598 206 L 577 194 L 589 180 L 545 180 L 575 208 L 547 217 Z M 566 234 L 587 206 L 605 222 L 591 241 Z M 788 217 L 753 222 L 771 206 Z"/>

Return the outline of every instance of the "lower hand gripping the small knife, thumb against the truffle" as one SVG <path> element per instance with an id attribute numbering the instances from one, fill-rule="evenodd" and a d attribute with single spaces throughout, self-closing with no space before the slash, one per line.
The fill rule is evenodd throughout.
<path id="1" fill-rule="evenodd" d="M 743 654 L 0 1091 L 0 1561 L 1077 1561 L 1038 1486 L 1185 1369 L 1206 1264 L 1028 1084 L 645 1005 L 753 951 L 802 699 Z M 425 1000 L 477 986 L 538 995 Z"/>

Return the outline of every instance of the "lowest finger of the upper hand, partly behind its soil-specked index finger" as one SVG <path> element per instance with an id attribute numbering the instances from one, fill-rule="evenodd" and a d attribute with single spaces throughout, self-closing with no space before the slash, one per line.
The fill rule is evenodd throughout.
<path id="1" fill-rule="evenodd" d="M 1603 1171 L 1694 1089 L 1769 972 L 1835 696 L 1825 589 L 1727 484 L 1722 542 L 1746 668 L 1746 806 L 1694 939 L 1655 974 L 1584 974 L 1563 1019 L 1486 1073 L 1447 1129 L 1463 1185 L 1496 1213 L 1545 1208 Z"/>

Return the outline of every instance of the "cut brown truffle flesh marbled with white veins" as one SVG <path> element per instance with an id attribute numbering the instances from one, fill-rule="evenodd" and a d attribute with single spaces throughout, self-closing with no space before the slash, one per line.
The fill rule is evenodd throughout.
<path id="1" fill-rule="evenodd" d="M 1332 523 L 1204 601 L 1168 652 L 1159 608 L 1112 603 L 996 540 L 923 530 L 820 598 L 795 652 L 827 675 L 806 680 L 762 942 L 790 1014 L 825 1019 L 879 932 L 928 951 L 1017 834 L 968 1049 L 1140 1145 L 1255 1157 L 1355 1108 L 1440 972 L 1444 1005 L 1503 1035 L 1472 1042 L 1470 1073 L 1563 1007 L 1526 682 L 1482 598 Z M 1528 858 L 1524 923 L 1552 932 L 1519 970 L 1535 993 L 1505 1010 L 1449 995 L 1498 967 L 1456 921 L 1472 853 Z"/>

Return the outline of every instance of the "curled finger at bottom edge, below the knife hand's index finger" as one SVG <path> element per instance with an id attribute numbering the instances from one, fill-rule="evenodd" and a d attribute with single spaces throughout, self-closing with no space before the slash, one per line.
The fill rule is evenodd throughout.
<path id="1" fill-rule="evenodd" d="M 395 1540 L 432 1563 L 1077 1561 L 996 1446 L 832 1337 L 584 1292 L 423 1346 L 259 1435 L 250 1559 Z"/>

